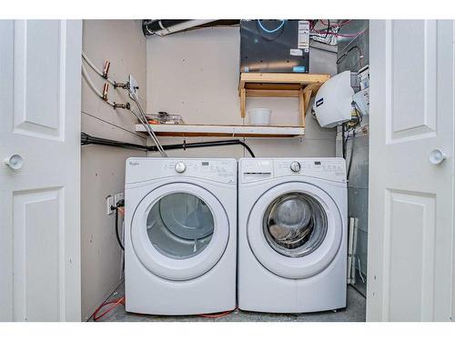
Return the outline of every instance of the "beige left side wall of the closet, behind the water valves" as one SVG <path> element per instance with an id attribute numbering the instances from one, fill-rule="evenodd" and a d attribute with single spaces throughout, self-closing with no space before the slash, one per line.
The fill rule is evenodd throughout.
<path id="1" fill-rule="evenodd" d="M 83 50 L 98 68 L 111 62 L 109 76 L 126 81 L 135 75 L 140 91 L 146 91 L 146 39 L 141 21 L 85 20 Z M 100 90 L 104 79 L 88 66 L 91 79 Z M 109 89 L 109 99 L 128 101 L 124 90 Z M 143 104 L 145 101 L 141 98 Z M 106 105 L 82 80 L 82 131 L 129 143 L 146 144 L 136 135 L 136 119 L 126 110 Z M 82 230 L 82 316 L 86 320 L 96 307 L 116 289 L 122 280 L 122 255 L 116 243 L 115 216 L 106 216 L 106 196 L 124 191 L 125 160 L 129 156 L 145 156 L 108 146 L 82 147 L 81 230 Z"/>

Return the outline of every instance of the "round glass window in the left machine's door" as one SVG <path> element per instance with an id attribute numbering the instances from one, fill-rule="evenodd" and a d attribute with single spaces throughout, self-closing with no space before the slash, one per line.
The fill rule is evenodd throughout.
<path id="1" fill-rule="evenodd" d="M 147 216 L 147 235 L 164 256 L 196 256 L 212 239 L 213 213 L 201 198 L 189 193 L 161 197 Z"/>

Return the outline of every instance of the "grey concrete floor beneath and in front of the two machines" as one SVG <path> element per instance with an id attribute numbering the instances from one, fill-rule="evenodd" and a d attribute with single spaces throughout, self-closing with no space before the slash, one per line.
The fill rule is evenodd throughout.
<path id="1" fill-rule="evenodd" d="M 108 298 L 108 301 L 118 300 L 124 296 L 123 284 Z M 106 307 L 108 308 L 108 307 Z M 103 314 L 105 310 L 98 314 Z M 91 319 L 90 321 L 93 321 Z M 361 296 L 352 286 L 348 286 L 348 307 L 337 312 L 328 311 L 311 314 L 264 314 L 235 310 L 227 316 L 207 318 L 201 316 L 153 316 L 126 313 L 125 306 L 116 306 L 99 322 L 364 322 L 365 297 Z"/>

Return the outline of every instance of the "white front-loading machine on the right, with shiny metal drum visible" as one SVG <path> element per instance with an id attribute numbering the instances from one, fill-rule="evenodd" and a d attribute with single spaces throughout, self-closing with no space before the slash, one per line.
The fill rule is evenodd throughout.
<path id="1" fill-rule="evenodd" d="M 238 307 L 345 307 L 347 210 L 342 158 L 240 159 Z"/>

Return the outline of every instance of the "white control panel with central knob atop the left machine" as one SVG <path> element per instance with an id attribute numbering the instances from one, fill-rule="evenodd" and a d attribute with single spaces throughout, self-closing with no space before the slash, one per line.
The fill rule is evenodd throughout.
<path id="1" fill-rule="evenodd" d="M 236 184 L 237 161 L 234 159 L 158 159 L 155 157 L 134 157 L 126 160 L 127 183 L 168 176 L 190 176 Z"/>

